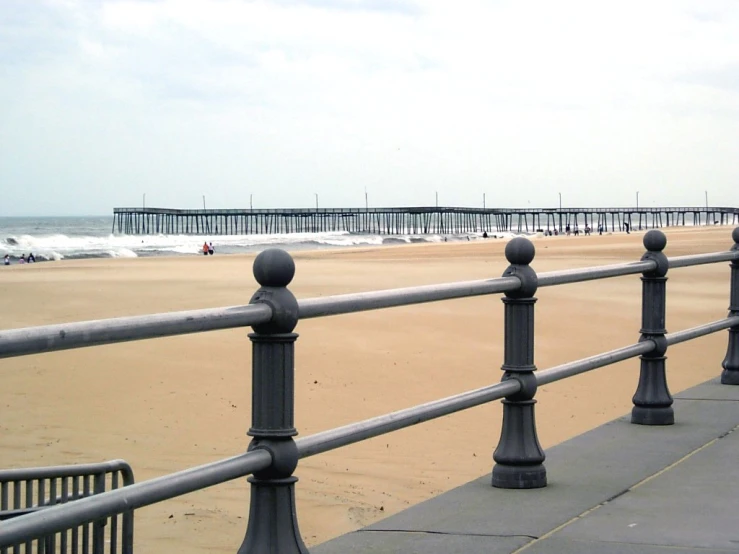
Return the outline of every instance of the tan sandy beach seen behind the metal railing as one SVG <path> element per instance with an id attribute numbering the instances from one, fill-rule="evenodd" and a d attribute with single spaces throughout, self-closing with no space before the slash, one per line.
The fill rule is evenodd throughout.
<path id="1" fill-rule="evenodd" d="M 670 256 L 728 250 L 731 228 L 667 229 Z M 643 233 L 539 237 L 537 271 L 630 261 Z M 299 252 L 298 298 L 499 276 L 505 242 Z M 251 256 L 79 260 L 0 271 L 2 328 L 245 304 Z M 631 344 L 638 276 L 537 293 L 541 369 Z M 729 268 L 673 270 L 667 326 L 726 316 Z M 500 297 L 306 320 L 296 345 L 301 436 L 497 382 Z M 0 360 L 0 467 L 124 458 L 138 481 L 243 452 L 250 423 L 247 329 Z M 668 352 L 671 390 L 717 376 L 727 333 Z M 548 385 L 537 398 L 546 448 L 626 413 L 638 360 Z M 677 412 L 679 420 L 680 413 Z M 499 402 L 301 461 L 298 516 L 309 545 L 357 529 L 492 467 Z M 550 475 L 556 482 L 557 476 Z M 136 552 L 233 553 L 244 535 L 245 479 L 136 512 Z M 172 517 L 170 517 L 172 516 Z"/>

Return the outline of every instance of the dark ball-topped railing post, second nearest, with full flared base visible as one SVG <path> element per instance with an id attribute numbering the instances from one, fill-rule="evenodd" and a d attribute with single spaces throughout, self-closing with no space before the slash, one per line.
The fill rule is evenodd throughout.
<path id="1" fill-rule="evenodd" d="M 510 266 L 504 277 L 518 277 L 521 287 L 506 292 L 503 381 L 516 379 L 521 390 L 503 400 L 503 429 L 493 459 L 493 486 L 501 489 L 536 489 L 547 484 L 544 451 L 536 435 L 534 395 L 534 293 L 539 284 L 529 266 L 535 249 L 531 241 L 517 237 L 505 249 Z"/>

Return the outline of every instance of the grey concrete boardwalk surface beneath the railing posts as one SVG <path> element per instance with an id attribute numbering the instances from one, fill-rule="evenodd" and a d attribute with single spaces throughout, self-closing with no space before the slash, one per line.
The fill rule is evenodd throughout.
<path id="1" fill-rule="evenodd" d="M 544 489 L 486 475 L 311 552 L 739 552 L 739 387 L 710 381 L 674 407 L 673 426 L 623 417 L 550 448 Z"/>

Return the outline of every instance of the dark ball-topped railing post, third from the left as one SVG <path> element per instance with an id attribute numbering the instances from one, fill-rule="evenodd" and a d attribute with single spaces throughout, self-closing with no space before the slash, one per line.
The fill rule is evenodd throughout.
<path id="1" fill-rule="evenodd" d="M 642 328 L 639 341 L 650 340 L 655 348 L 640 356 L 641 372 L 639 385 L 634 394 L 634 407 L 631 410 L 631 423 L 637 425 L 672 425 L 675 411 L 672 396 L 667 388 L 665 373 L 665 303 L 668 261 L 664 250 L 667 237 L 662 231 L 653 229 L 644 235 L 647 252 L 642 260 L 652 260 L 657 267 L 642 273 Z"/>

